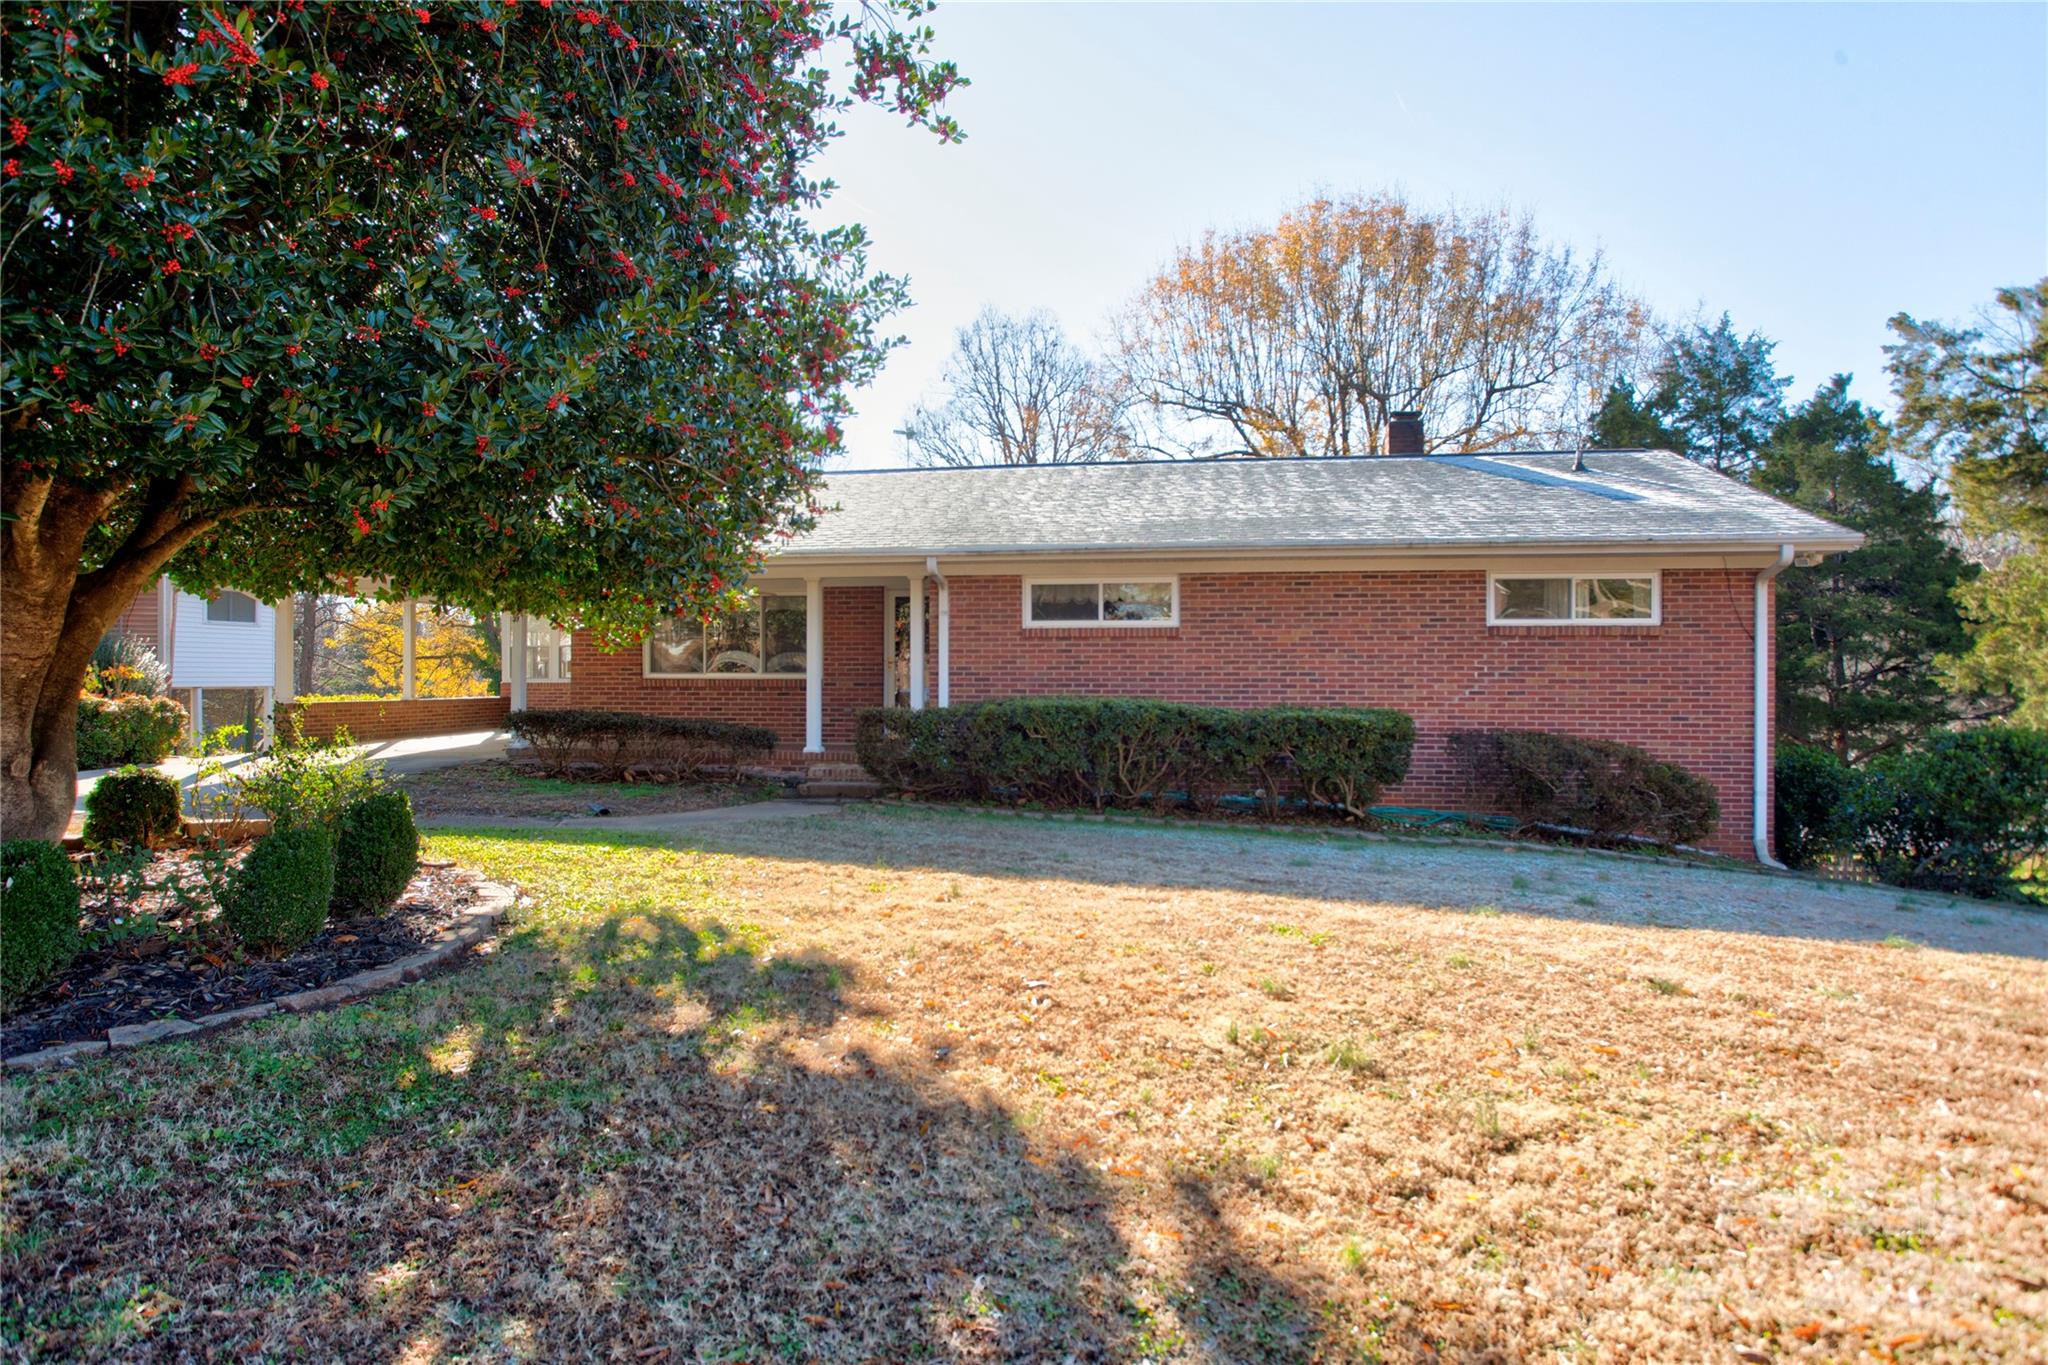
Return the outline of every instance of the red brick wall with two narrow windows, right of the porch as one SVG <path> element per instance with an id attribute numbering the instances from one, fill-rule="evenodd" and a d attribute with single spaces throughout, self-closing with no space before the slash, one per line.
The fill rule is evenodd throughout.
<path id="1" fill-rule="evenodd" d="M 1749 851 L 1751 571 L 1671 569 L 1659 626 L 1487 626 L 1483 571 L 1182 575 L 1178 628 L 1026 630 L 1014 577 L 952 579 L 952 700 L 1157 696 L 1393 706 L 1415 716 L 1395 804 L 1473 806 L 1460 729 L 1620 739 L 1720 794 Z"/>

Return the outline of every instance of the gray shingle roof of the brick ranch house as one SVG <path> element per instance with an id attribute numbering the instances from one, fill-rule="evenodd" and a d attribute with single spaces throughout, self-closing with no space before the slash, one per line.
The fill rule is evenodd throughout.
<path id="1" fill-rule="evenodd" d="M 1640 544 L 1851 548 L 1667 450 L 891 469 L 827 475 L 813 555 Z"/>

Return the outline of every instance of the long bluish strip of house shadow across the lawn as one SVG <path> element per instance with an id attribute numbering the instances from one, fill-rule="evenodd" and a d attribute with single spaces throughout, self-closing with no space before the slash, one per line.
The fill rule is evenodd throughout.
<path id="1" fill-rule="evenodd" d="M 602 831 L 596 831 L 602 835 Z M 1239 890 L 1421 909 L 1497 909 L 1647 929 L 1847 943 L 1909 939 L 1964 954 L 2048 958 L 2048 911 L 1741 866 L 1583 849 L 1356 839 L 1346 833 L 1040 821 L 963 808 L 848 806 L 793 823 L 731 821 L 674 847 L 778 862 L 848 862 L 1118 888 Z"/>

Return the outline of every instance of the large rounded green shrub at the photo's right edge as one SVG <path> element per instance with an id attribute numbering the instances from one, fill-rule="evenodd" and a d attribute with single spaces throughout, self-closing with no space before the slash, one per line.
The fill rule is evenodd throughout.
<path id="1" fill-rule="evenodd" d="M 1849 819 L 1864 866 L 1884 882 L 2009 894 L 2021 866 L 2048 857 L 2048 731 L 1935 735 L 1864 774 Z"/>

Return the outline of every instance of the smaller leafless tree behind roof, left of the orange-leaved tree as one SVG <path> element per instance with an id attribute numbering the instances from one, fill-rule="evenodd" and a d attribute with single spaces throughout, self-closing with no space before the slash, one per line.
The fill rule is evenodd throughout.
<path id="1" fill-rule="evenodd" d="M 1075 465 L 1128 454 L 1114 377 L 1051 313 L 983 309 L 954 340 L 944 397 L 899 432 L 920 465 Z"/>

